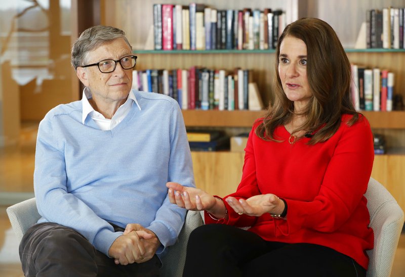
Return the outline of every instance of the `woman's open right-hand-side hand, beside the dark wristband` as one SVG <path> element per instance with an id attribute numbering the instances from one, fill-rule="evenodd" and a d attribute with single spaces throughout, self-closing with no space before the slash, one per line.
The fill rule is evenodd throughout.
<path id="1" fill-rule="evenodd" d="M 280 214 L 284 211 L 284 202 L 274 194 L 255 195 L 247 200 L 228 197 L 225 201 L 239 214 L 261 216 L 264 213 Z"/>

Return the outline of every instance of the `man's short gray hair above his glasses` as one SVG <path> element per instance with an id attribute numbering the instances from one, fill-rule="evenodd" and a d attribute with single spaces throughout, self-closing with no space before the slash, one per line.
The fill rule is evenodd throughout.
<path id="1" fill-rule="evenodd" d="M 77 67 L 84 65 L 83 63 L 85 62 L 86 56 L 90 51 L 96 49 L 105 42 L 109 42 L 120 37 L 124 38 L 125 42 L 127 42 L 132 50 L 131 44 L 125 37 L 125 32 L 118 28 L 98 25 L 83 31 L 72 47 L 71 64 L 74 67 L 74 70 L 76 70 Z"/>

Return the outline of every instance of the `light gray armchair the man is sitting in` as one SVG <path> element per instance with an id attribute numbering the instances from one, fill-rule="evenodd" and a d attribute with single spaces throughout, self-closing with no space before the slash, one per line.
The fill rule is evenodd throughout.
<path id="1" fill-rule="evenodd" d="M 35 198 L 8 207 L 7 214 L 18 242 L 21 241 L 26 230 L 41 217 L 36 209 Z M 161 276 L 175 277 L 183 274 L 188 237 L 191 231 L 201 224 L 203 224 L 203 219 L 199 212 L 187 212 L 186 220 L 176 244 L 169 247 L 167 255 L 162 260 Z"/>

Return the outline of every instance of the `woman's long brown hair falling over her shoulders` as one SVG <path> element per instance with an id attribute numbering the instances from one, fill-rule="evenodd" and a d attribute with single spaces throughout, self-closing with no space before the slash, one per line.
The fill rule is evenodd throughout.
<path id="1" fill-rule="evenodd" d="M 277 141 L 274 129 L 285 125 L 294 116 L 294 103 L 290 101 L 278 74 L 280 44 L 292 36 L 304 41 L 307 47 L 307 77 L 312 97 L 306 110 L 299 115 L 306 122 L 298 130 L 314 132 L 309 144 L 327 141 L 339 128 L 342 114 L 352 114 L 347 122 L 352 125 L 358 119 L 350 100 L 351 69 L 340 40 L 332 27 L 316 18 L 303 18 L 289 24 L 280 35 L 276 48 L 275 80 L 273 82 L 274 102 L 263 121 L 256 128 L 256 134 L 263 140 Z"/>

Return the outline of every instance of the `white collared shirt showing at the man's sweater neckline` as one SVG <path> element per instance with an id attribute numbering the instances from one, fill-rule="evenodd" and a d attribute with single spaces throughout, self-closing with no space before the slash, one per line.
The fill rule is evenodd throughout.
<path id="1" fill-rule="evenodd" d="M 88 87 L 85 87 L 85 89 L 83 89 L 82 97 L 82 123 L 85 124 L 87 116 L 90 115 L 90 117 L 96 122 L 97 126 L 99 126 L 99 128 L 103 131 L 112 130 L 121 121 L 123 121 L 127 114 L 130 112 L 132 104 L 134 102 L 138 106 L 138 109 L 141 110 L 141 107 L 139 106 L 138 101 L 136 100 L 132 90 L 128 95 L 127 101 L 123 105 L 119 106 L 111 119 L 105 118 L 101 113 L 94 110 L 89 102 L 89 99 L 91 98 L 92 95 L 90 93 L 90 89 Z"/>

